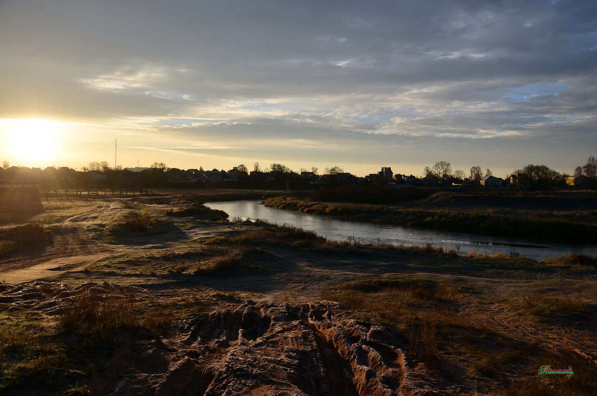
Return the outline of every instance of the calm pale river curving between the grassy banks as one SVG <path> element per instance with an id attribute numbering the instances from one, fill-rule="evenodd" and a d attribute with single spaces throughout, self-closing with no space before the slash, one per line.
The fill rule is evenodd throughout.
<path id="1" fill-rule="evenodd" d="M 411 227 L 391 226 L 388 224 L 360 223 L 356 221 L 337 220 L 321 215 L 302 212 L 282 211 L 261 205 L 259 201 L 241 200 L 230 202 L 207 202 L 205 206 L 220 209 L 233 218 L 250 218 L 266 220 L 278 225 L 300 227 L 313 231 L 327 239 L 354 239 L 364 243 L 392 243 L 392 245 L 433 245 L 444 249 L 457 249 L 460 254 L 480 252 L 484 254 L 515 254 L 531 257 L 537 261 L 544 258 L 557 257 L 572 253 L 583 253 L 597 256 L 597 246 L 559 245 L 525 242 L 524 240 L 505 239 L 500 237 L 479 236 L 475 234 L 450 233 L 442 231 L 413 229 Z"/>

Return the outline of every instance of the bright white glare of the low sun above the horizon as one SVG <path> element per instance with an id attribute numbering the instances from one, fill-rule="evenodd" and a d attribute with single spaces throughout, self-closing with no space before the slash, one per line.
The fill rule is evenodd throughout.
<path id="1" fill-rule="evenodd" d="M 56 156 L 57 123 L 47 120 L 11 120 L 7 128 L 10 154 L 24 163 L 39 164 Z"/>

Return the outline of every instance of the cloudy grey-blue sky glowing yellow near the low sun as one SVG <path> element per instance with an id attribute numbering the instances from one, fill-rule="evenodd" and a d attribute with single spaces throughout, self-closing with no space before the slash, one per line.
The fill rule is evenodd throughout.
<path id="1" fill-rule="evenodd" d="M 0 50 L 11 165 L 503 177 L 597 156 L 595 0 L 0 0 Z"/>

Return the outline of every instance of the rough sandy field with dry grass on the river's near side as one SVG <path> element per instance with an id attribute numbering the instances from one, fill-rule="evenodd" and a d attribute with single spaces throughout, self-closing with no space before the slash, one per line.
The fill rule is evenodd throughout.
<path id="1" fill-rule="evenodd" d="M 2 202 L 0 394 L 597 392 L 595 258 L 330 242 L 202 205 L 273 195 Z"/>

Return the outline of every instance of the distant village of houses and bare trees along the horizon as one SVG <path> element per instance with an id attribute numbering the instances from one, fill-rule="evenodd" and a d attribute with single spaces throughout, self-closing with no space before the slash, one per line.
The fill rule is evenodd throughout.
<path id="1" fill-rule="evenodd" d="M 589 157 L 587 164 L 590 165 Z M 438 166 L 439 165 L 439 166 Z M 443 165 L 443 167 L 442 167 Z M 447 165 L 447 167 L 445 166 Z M 533 168 L 534 167 L 534 168 Z M 584 168 L 586 168 L 585 166 Z M 544 165 L 528 165 L 515 171 L 509 178 L 498 178 L 487 169 L 471 168 L 469 176 L 457 170 L 451 172 L 449 163 L 438 162 L 433 168 L 426 167 L 424 176 L 394 173 L 391 167 L 381 167 L 376 173 L 359 177 L 344 172 L 339 167 L 326 169 L 319 175 L 317 168 L 311 171 L 301 169 L 300 173 L 280 164 L 272 164 L 261 170 L 256 163 L 254 170 L 239 165 L 232 169 L 177 169 L 163 163 L 154 163 L 149 168 L 125 168 L 116 170 L 107 163 L 90 163 L 81 170 L 69 167 L 47 167 L 45 169 L 4 166 L 0 169 L 0 191 L 14 190 L 134 190 L 136 188 L 317 188 L 321 186 L 384 186 L 389 188 L 442 188 L 462 190 L 467 188 L 493 188 L 537 190 L 541 188 L 594 188 L 595 175 L 592 168 L 577 167 L 578 174 L 561 175 Z M 587 172 L 583 172 L 587 170 Z M 576 173 L 576 172 L 575 172 Z M 588 173 L 588 174 L 587 174 Z M 592 174 L 591 174 L 592 173 Z"/>

